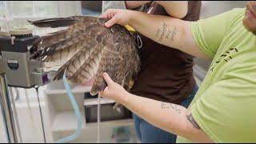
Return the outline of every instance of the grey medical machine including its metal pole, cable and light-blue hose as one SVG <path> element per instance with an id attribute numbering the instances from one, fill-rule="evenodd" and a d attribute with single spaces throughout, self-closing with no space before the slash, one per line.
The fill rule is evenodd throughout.
<path id="1" fill-rule="evenodd" d="M 32 30 L 20 29 L 14 30 L 9 34 L 0 36 L 0 105 L 3 120 L 6 128 L 8 142 L 18 142 L 18 134 L 15 126 L 15 115 L 12 102 L 14 98 L 10 94 L 8 86 L 31 88 L 43 86 L 50 82 L 49 74 L 43 71 L 43 63 L 40 61 L 30 60 L 30 48 L 38 36 L 32 35 Z M 81 134 L 81 115 L 78 110 L 77 103 L 73 94 L 70 92 L 70 86 L 66 81 L 66 75 L 63 75 L 64 84 L 78 117 L 78 130 L 70 137 L 63 138 L 58 142 L 69 142 L 74 140 Z M 39 98 L 39 96 L 38 96 Z M 42 110 L 38 99 L 40 114 L 42 118 Z M 16 118 L 17 120 L 17 118 Z M 44 130 L 42 122 L 42 130 Z M 45 132 L 43 131 L 43 134 Z M 44 135 L 45 137 L 45 135 Z M 46 138 L 44 138 L 46 142 Z"/>

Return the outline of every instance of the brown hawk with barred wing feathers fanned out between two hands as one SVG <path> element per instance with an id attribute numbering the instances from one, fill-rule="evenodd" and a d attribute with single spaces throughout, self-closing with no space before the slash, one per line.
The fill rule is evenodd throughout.
<path id="1" fill-rule="evenodd" d="M 92 16 L 29 22 L 38 27 L 67 26 L 38 38 L 30 50 L 30 58 L 42 60 L 46 67 L 58 66 L 54 80 L 61 79 L 65 70 L 71 83 L 82 84 L 94 78 L 90 94 L 96 95 L 106 88 L 102 78 L 106 72 L 126 90 L 132 88 L 141 61 L 134 34 L 124 26 L 106 28 L 106 19 Z"/>

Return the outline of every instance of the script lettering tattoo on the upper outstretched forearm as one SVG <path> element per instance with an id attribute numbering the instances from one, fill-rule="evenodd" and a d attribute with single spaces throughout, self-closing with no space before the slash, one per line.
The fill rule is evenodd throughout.
<path id="1" fill-rule="evenodd" d="M 162 41 L 162 39 L 170 39 L 171 41 L 174 41 L 174 37 L 176 34 L 177 34 L 176 26 L 172 29 L 168 25 L 166 25 L 166 22 L 163 22 L 162 28 L 159 28 L 158 30 L 156 30 L 155 36 L 159 38 L 159 41 Z"/>

